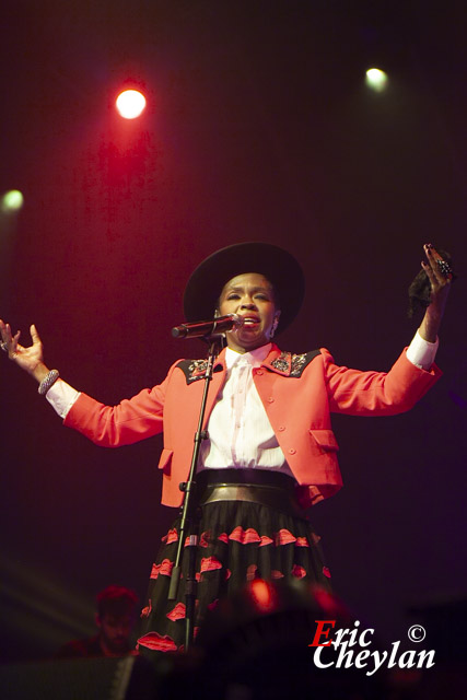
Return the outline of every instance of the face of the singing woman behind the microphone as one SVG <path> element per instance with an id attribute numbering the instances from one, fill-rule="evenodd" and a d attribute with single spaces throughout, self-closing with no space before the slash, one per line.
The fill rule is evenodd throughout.
<path id="1" fill-rule="evenodd" d="M 219 311 L 221 316 L 238 314 L 244 318 L 242 326 L 225 334 L 229 348 L 242 353 L 268 343 L 280 316 L 272 284 L 257 272 L 232 278 L 221 292 Z"/>

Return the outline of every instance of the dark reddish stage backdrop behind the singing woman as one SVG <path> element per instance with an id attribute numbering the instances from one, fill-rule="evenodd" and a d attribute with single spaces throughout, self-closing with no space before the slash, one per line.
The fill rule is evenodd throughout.
<path id="1" fill-rule="evenodd" d="M 306 272 L 283 348 L 387 370 L 417 327 L 422 244 L 452 252 L 443 380 L 407 415 L 337 417 L 346 488 L 312 513 L 336 592 L 390 641 L 407 606 L 466 593 L 466 19 L 427 0 L 43 0 L 1 16 L 0 190 L 25 205 L 0 222 L 0 316 L 26 341 L 35 323 L 77 388 L 118 402 L 202 354 L 170 332 L 185 281 L 248 240 Z M 125 81 L 149 98 L 135 121 L 113 106 Z M 98 448 L 5 357 L 0 382 L 2 657 L 38 658 L 92 631 L 105 585 L 143 602 L 173 512 L 160 439 Z"/>

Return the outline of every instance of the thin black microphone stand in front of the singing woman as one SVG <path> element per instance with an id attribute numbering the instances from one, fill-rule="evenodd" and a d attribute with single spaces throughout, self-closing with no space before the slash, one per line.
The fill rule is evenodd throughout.
<path id="1" fill-rule="evenodd" d="M 175 557 L 174 567 L 171 573 L 171 585 L 168 588 L 168 600 L 175 600 L 178 592 L 178 584 L 182 573 L 182 559 L 185 545 L 185 535 L 188 534 L 187 553 L 188 553 L 188 573 L 185 580 L 185 600 L 186 600 L 186 614 L 185 614 L 185 651 L 192 644 L 194 638 L 194 621 L 195 621 L 195 604 L 197 593 L 196 581 L 196 552 L 198 548 L 198 533 L 195 529 L 197 524 L 197 508 L 196 508 L 196 468 L 198 465 L 199 451 L 201 448 L 201 442 L 208 438 L 208 431 L 202 430 L 202 423 L 205 421 L 206 402 L 208 398 L 209 383 L 212 380 L 212 371 L 214 366 L 215 358 L 219 354 L 220 349 L 220 336 L 209 336 L 206 338 L 210 343 L 208 352 L 208 365 L 205 373 L 205 388 L 201 398 L 201 406 L 199 410 L 198 429 L 195 433 L 195 445 L 191 456 L 191 466 L 189 469 L 188 480 L 183 481 L 179 485 L 180 491 L 185 492 L 185 499 L 182 505 L 180 527 L 177 542 L 177 553 Z"/>

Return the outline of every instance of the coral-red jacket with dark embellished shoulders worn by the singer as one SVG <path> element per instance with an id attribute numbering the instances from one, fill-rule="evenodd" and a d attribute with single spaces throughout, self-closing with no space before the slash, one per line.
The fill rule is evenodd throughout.
<path id="1" fill-rule="evenodd" d="M 65 424 L 98 445 L 118 447 L 163 431 L 162 503 L 178 506 L 180 481 L 188 478 L 203 389 L 206 360 L 182 360 L 164 382 L 118 406 L 104 406 L 81 394 Z M 413 365 L 404 351 L 389 372 L 361 372 L 334 363 L 322 348 L 304 354 L 272 346 L 253 378 L 285 459 L 299 483 L 299 497 L 310 506 L 342 486 L 338 444 L 330 413 L 393 416 L 410 409 L 436 382 L 441 371 Z M 225 350 L 214 364 L 205 427 L 226 378 Z"/>

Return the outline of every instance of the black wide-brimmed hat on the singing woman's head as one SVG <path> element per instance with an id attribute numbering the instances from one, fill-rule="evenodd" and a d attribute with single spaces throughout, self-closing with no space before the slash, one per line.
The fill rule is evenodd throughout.
<path id="1" fill-rule="evenodd" d="M 293 255 L 270 243 L 230 245 L 198 265 L 185 288 L 186 319 L 192 322 L 212 318 L 225 283 L 246 272 L 258 272 L 271 282 L 281 310 L 278 331 L 284 330 L 302 306 L 305 277 Z"/>

